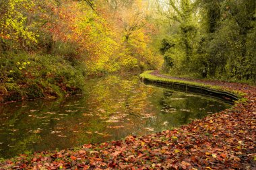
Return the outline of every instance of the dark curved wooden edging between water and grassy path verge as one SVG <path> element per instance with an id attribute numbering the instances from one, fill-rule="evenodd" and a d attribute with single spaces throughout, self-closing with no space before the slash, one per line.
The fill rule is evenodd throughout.
<path id="1" fill-rule="evenodd" d="M 141 80 L 144 83 L 151 83 L 154 85 L 172 87 L 172 89 L 179 90 L 179 91 L 193 92 L 193 93 L 199 93 L 202 95 L 207 95 L 210 97 L 216 97 L 218 99 L 222 99 L 227 103 L 234 103 L 234 101 L 237 101 L 239 99 L 237 95 L 230 93 L 228 91 L 210 89 L 210 88 L 202 87 L 199 85 L 189 85 L 187 83 L 178 83 L 175 81 L 170 82 L 170 81 L 162 81 L 162 80 L 155 80 L 155 79 L 153 80 L 147 77 L 141 77 Z"/>

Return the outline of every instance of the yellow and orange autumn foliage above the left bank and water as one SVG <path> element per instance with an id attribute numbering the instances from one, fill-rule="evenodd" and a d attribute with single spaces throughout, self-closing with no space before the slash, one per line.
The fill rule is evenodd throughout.
<path id="1" fill-rule="evenodd" d="M 142 1 L 9 0 L 1 4 L 1 50 L 26 49 L 86 63 L 88 75 L 156 69 L 154 26 Z M 92 6 L 93 5 L 93 6 Z M 157 59 L 156 59 L 157 58 Z"/>

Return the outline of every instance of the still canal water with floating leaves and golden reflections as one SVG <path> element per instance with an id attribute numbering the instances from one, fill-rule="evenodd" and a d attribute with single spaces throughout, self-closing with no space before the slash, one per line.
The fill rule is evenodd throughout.
<path id="1" fill-rule="evenodd" d="M 94 79 L 84 95 L 0 105 L 0 157 L 141 136 L 229 107 L 218 99 L 144 85 L 137 76 Z"/>

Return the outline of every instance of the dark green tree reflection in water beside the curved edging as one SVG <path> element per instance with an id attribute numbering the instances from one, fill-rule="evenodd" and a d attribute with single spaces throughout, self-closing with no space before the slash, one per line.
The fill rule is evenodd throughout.
<path id="1" fill-rule="evenodd" d="M 168 120 L 170 126 L 187 124 L 193 119 L 203 118 L 208 113 L 226 108 L 224 105 L 220 106 L 220 102 L 215 99 L 168 90 L 164 90 L 159 104 L 162 107 L 162 119 Z"/>

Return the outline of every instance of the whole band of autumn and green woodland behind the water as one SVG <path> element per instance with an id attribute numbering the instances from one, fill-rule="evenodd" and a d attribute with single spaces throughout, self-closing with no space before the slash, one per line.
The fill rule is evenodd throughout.
<path id="1" fill-rule="evenodd" d="M 154 69 L 256 80 L 254 0 L 1 0 L 0 14 L 1 102 Z"/>

